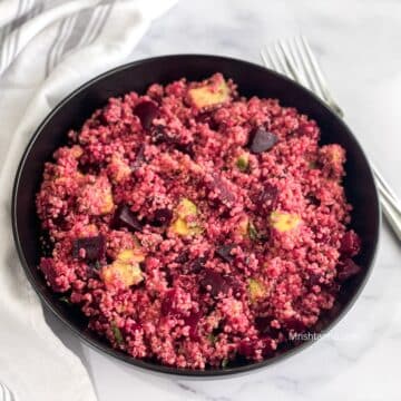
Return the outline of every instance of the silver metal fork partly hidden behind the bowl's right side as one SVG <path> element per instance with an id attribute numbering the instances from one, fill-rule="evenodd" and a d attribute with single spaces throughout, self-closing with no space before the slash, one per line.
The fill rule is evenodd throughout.
<path id="1" fill-rule="evenodd" d="M 266 67 L 272 68 L 317 95 L 338 116 L 344 117 L 343 110 L 329 91 L 325 78 L 311 46 L 304 36 L 278 40 L 261 50 Z M 372 163 L 372 170 L 379 190 L 382 211 L 401 241 L 401 203 L 383 176 Z"/>

